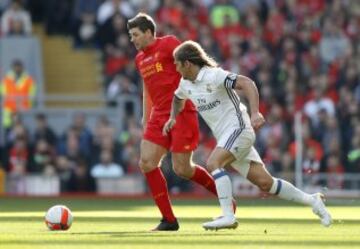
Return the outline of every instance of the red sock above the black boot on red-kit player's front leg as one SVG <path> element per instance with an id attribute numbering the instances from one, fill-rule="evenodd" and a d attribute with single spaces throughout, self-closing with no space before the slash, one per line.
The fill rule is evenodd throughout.
<path id="1" fill-rule="evenodd" d="M 156 168 L 144 174 L 151 190 L 153 199 L 160 209 L 160 212 L 167 221 L 176 220 L 172 211 L 167 182 L 160 168 Z M 214 183 L 213 183 L 214 184 Z"/>

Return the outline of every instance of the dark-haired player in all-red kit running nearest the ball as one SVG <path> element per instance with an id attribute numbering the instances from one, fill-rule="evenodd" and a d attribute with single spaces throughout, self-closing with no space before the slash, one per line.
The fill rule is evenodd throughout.
<path id="1" fill-rule="evenodd" d="M 172 152 L 172 165 L 177 175 L 201 184 L 215 195 L 216 187 L 210 174 L 203 167 L 194 165 L 191 160 L 199 133 L 197 112 L 190 101 L 178 116 L 171 133 L 168 136 L 162 134 L 162 128 L 170 116 L 174 91 L 181 78 L 172 55 L 180 41 L 175 36 L 156 37 L 154 20 L 144 13 L 130 19 L 127 26 L 131 42 L 138 50 L 136 67 L 144 81 L 144 135 L 139 164 L 163 216 L 154 230 L 176 231 L 179 224 L 172 211 L 166 179 L 160 169 L 161 160 L 166 153 Z"/>

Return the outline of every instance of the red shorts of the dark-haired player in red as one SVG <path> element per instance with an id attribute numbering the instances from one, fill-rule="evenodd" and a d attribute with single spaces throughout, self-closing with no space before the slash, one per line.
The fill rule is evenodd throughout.
<path id="1" fill-rule="evenodd" d="M 161 145 L 172 152 L 190 152 L 199 143 L 199 123 L 196 112 L 185 111 L 176 117 L 176 124 L 167 136 L 162 129 L 168 121 L 169 115 L 151 113 L 146 124 L 144 139 Z"/>

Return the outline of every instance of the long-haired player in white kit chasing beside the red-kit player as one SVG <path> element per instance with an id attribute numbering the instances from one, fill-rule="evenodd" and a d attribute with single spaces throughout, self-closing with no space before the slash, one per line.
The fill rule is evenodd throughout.
<path id="1" fill-rule="evenodd" d="M 163 134 L 176 125 L 177 114 L 184 107 L 185 100 L 190 99 L 217 140 L 206 166 L 215 180 L 223 214 L 204 223 L 203 227 L 218 230 L 238 226 L 232 206 L 231 180 L 225 170 L 227 165 L 231 165 L 262 191 L 311 206 L 321 223 L 330 226 L 332 219 L 325 208 L 324 196 L 321 193 L 304 193 L 283 179 L 273 178 L 253 147 L 255 131 L 265 123 L 259 112 L 259 94 L 255 83 L 245 76 L 217 67 L 216 62 L 196 42 L 180 44 L 173 55 L 176 70 L 182 79 L 175 91 L 170 118 L 164 125 Z M 244 92 L 249 102 L 250 116 L 235 89 Z"/>

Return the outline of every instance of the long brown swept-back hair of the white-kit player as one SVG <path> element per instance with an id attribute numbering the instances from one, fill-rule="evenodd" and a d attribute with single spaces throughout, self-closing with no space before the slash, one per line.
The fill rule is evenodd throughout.
<path id="1" fill-rule="evenodd" d="M 190 61 L 199 67 L 217 67 L 216 61 L 204 51 L 199 43 L 194 41 L 181 43 L 175 48 L 173 56 L 176 61 L 180 61 L 181 63 Z"/>

